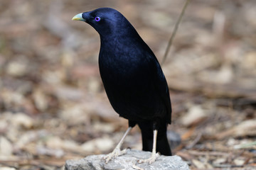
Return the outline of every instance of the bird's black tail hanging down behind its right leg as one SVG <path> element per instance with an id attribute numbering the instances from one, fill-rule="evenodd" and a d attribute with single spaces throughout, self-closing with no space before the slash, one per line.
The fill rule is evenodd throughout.
<path id="1" fill-rule="evenodd" d="M 142 130 L 142 150 L 151 152 L 153 148 L 153 123 L 146 121 L 138 123 L 138 125 Z M 166 135 L 166 123 L 160 123 L 157 130 L 156 152 L 171 156 L 171 148 Z"/>

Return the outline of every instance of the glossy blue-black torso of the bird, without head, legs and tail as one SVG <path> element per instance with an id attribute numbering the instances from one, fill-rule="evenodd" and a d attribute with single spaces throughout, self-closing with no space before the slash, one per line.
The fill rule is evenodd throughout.
<path id="1" fill-rule="evenodd" d="M 171 123 L 169 89 L 159 62 L 132 25 L 122 32 L 101 38 L 100 75 L 112 107 L 128 120 Z"/>

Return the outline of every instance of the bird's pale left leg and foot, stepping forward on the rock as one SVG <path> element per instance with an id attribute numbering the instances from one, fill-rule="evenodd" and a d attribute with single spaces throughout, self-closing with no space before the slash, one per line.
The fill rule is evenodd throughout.
<path id="1" fill-rule="evenodd" d="M 132 130 L 132 127 L 129 127 L 127 129 L 127 131 L 124 133 L 124 136 L 122 137 L 122 139 L 120 140 L 120 142 L 117 144 L 117 146 L 114 148 L 114 150 L 110 153 L 107 154 L 103 159 L 105 159 L 106 164 L 110 161 L 110 159 L 118 157 L 119 155 L 125 154 L 127 152 L 127 149 L 123 149 L 121 151 L 121 146 L 122 143 L 124 142 L 124 138 L 127 137 L 129 131 Z"/>

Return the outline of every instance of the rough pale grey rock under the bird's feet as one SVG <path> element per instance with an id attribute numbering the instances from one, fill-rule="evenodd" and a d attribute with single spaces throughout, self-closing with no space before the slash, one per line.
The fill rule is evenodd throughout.
<path id="1" fill-rule="evenodd" d="M 114 169 L 150 169 L 150 170 L 171 170 L 171 169 L 182 169 L 186 170 L 188 164 L 183 162 L 181 157 L 178 156 L 160 156 L 156 159 L 156 162 L 152 164 L 139 164 L 137 161 L 139 159 L 146 159 L 151 156 L 151 152 L 144 152 L 138 150 L 128 150 L 126 154 L 112 159 L 108 164 L 105 164 L 105 160 L 102 159 L 105 155 L 90 155 L 79 160 L 67 160 L 65 162 L 65 170 L 85 170 L 85 169 L 95 169 L 95 170 L 114 170 Z"/>

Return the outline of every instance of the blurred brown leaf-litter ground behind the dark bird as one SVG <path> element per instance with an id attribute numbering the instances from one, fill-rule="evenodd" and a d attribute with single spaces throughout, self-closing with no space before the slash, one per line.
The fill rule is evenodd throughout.
<path id="1" fill-rule="evenodd" d="M 0 1 L 0 169 L 63 169 L 127 129 L 100 79 L 100 37 L 73 16 L 124 14 L 161 62 L 184 1 Z M 256 166 L 256 1 L 193 0 L 162 68 L 169 138 L 191 169 Z M 123 147 L 141 149 L 139 128 Z"/>

